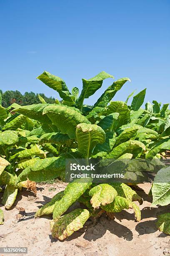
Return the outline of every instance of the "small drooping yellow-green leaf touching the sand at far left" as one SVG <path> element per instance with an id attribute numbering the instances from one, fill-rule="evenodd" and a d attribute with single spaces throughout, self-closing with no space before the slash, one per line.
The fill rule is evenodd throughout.
<path id="1" fill-rule="evenodd" d="M 16 196 L 18 193 L 18 189 L 16 187 L 12 187 L 7 185 L 5 187 L 5 191 L 2 197 L 2 204 L 5 205 L 5 209 L 9 210 L 13 203 L 15 202 Z"/>

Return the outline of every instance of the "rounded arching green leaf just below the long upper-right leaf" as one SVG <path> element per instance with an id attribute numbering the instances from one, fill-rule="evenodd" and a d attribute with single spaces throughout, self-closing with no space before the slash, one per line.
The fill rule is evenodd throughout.
<path id="1" fill-rule="evenodd" d="M 113 123 L 112 131 L 115 131 L 121 125 L 130 121 L 130 110 L 127 104 L 123 101 L 112 101 L 107 107 L 107 115 L 111 113 L 119 113 L 117 120 Z"/>

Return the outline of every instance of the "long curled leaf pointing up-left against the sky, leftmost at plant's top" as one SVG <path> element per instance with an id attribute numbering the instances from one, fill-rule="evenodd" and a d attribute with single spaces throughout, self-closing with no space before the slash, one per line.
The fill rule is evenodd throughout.
<path id="1" fill-rule="evenodd" d="M 57 91 L 63 100 L 74 103 L 74 97 L 69 92 L 64 80 L 62 80 L 60 77 L 56 77 L 55 75 L 44 71 L 42 74 L 40 74 L 40 76 L 37 77 L 37 79 L 40 79 L 40 81 L 42 81 L 44 84 Z"/>

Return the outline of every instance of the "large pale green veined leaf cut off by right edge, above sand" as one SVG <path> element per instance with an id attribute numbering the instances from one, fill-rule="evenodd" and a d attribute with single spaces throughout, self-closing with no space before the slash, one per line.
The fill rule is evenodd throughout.
<path id="1" fill-rule="evenodd" d="M 152 205 L 170 204 L 170 167 L 162 168 L 155 176 L 152 185 Z"/>

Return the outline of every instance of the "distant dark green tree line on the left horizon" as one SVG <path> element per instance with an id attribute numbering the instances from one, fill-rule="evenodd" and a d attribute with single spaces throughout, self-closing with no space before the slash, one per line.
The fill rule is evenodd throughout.
<path id="1" fill-rule="evenodd" d="M 9 107 L 13 103 L 18 103 L 21 106 L 41 103 L 38 93 L 35 94 L 34 92 L 25 92 L 24 95 L 22 95 L 17 90 L 8 90 L 6 92 L 2 92 L 2 90 L 0 90 L 0 94 L 2 95 L 2 106 L 5 108 Z M 55 102 L 55 98 L 46 97 L 44 93 L 39 93 L 39 95 L 43 97 L 47 103 Z"/>

